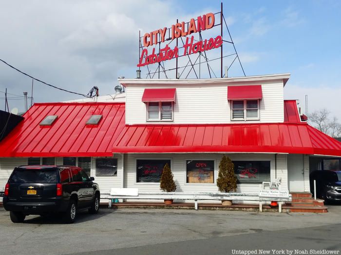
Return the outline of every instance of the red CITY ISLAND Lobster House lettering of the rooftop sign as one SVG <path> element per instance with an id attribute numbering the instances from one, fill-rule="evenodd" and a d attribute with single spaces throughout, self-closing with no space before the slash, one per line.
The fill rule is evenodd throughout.
<path id="1" fill-rule="evenodd" d="M 176 23 L 171 26 L 171 39 L 179 38 L 181 36 L 186 36 L 189 34 L 197 33 L 200 31 L 204 31 L 210 29 L 214 26 L 214 14 L 208 13 L 203 16 L 199 16 L 197 20 L 192 18 L 189 22 L 188 26 L 185 26 L 185 22 Z M 188 29 L 187 29 L 187 28 Z M 159 30 L 152 31 L 151 33 L 146 33 L 143 35 L 143 46 L 148 47 L 152 45 L 156 45 L 158 43 L 158 37 L 161 39 L 161 42 L 165 42 L 167 27 L 160 28 Z M 219 48 L 223 44 L 223 38 L 221 35 L 218 35 L 215 38 L 205 39 L 203 41 L 194 42 L 194 36 L 192 35 L 190 38 L 186 37 L 186 43 L 184 44 L 184 52 L 183 56 L 189 55 L 191 53 L 198 53 L 199 51 L 208 51 L 214 48 Z M 168 44 L 166 44 L 165 48 L 160 49 L 160 53 L 155 53 L 155 48 L 152 49 L 152 54 L 148 55 L 148 50 L 143 49 L 140 62 L 137 67 L 143 67 L 149 64 L 160 63 L 162 61 L 170 60 L 172 58 L 179 57 L 179 49 L 175 46 L 174 49 L 170 49 Z"/>

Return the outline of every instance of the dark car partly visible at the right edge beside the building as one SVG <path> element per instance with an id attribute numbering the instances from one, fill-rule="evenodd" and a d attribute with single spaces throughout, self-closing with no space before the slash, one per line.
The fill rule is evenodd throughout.
<path id="1" fill-rule="evenodd" d="M 310 173 L 310 191 L 325 202 L 341 201 L 341 171 L 315 170 Z"/>

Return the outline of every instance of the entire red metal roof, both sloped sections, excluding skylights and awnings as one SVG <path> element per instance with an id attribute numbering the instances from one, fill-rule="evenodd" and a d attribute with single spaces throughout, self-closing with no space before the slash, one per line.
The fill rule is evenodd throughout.
<path id="1" fill-rule="evenodd" d="M 284 105 L 284 123 L 125 125 L 124 103 L 36 103 L 0 142 L 0 157 L 186 152 L 341 156 L 341 142 L 296 122 L 292 114 L 297 107 L 295 111 L 291 101 Z M 47 115 L 58 118 L 51 126 L 40 126 Z M 85 124 L 91 115 L 103 116 L 98 125 Z"/>

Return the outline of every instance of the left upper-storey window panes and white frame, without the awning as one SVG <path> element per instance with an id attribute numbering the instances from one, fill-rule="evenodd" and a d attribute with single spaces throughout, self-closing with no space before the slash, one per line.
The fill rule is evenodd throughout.
<path id="1" fill-rule="evenodd" d="M 172 121 L 173 102 L 148 102 L 147 103 L 148 121 Z"/>

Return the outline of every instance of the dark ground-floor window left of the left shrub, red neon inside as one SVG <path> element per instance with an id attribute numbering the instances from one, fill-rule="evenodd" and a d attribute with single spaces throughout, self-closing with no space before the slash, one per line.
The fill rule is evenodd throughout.
<path id="1" fill-rule="evenodd" d="M 160 159 L 137 159 L 136 160 L 136 182 L 159 183 L 163 168 L 170 160 Z"/>

